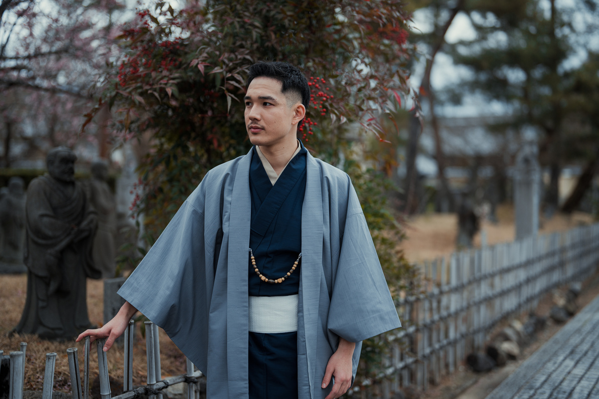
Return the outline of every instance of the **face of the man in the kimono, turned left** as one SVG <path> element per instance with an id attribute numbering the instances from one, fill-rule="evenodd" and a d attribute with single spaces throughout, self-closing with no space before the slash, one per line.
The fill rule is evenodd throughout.
<path id="1" fill-rule="evenodd" d="M 281 93 L 282 83 L 258 77 L 247 87 L 246 129 L 253 145 L 271 146 L 294 142 L 297 124 L 305 115 L 301 102 Z"/>

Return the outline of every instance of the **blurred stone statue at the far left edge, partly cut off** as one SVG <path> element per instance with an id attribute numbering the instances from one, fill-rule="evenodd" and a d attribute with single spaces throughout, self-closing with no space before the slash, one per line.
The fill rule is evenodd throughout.
<path id="1" fill-rule="evenodd" d="M 11 177 L 0 196 L 0 272 L 23 273 L 25 244 L 25 183 Z"/>

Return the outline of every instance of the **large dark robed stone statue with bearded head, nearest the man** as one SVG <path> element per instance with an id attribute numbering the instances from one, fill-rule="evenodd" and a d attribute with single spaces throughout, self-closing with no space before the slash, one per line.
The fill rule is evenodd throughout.
<path id="1" fill-rule="evenodd" d="M 101 277 L 92 261 L 97 218 L 75 182 L 75 160 L 69 148 L 53 148 L 46 159 L 49 173 L 29 184 L 27 300 L 17 333 L 71 339 L 90 327 L 86 277 Z"/>

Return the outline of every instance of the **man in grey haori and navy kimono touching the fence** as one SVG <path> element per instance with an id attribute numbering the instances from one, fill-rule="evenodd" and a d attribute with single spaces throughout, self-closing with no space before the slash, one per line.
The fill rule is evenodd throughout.
<path id="1" fill-rule="evenodd" d="M 400 321 L 349 176 L 297 140 L 309 99 L 295 66 L 250 67 L 255 147 L 207 173 L 119 291 L 119 315 L 79 339 L 108 336 L 107 350 L 137 307 L 207 375 L 208 398 L 347 391 L 361 340 Z"/>

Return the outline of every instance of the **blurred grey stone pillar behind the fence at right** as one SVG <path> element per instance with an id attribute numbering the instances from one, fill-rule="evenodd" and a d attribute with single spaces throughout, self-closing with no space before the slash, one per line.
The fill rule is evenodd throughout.
<path id="1" fill-rule="evenodd" d="M 539 233 L 541 168 L 536 144 L 525 144 L 516 156 L 514 209 L 516 240 Z"/>

